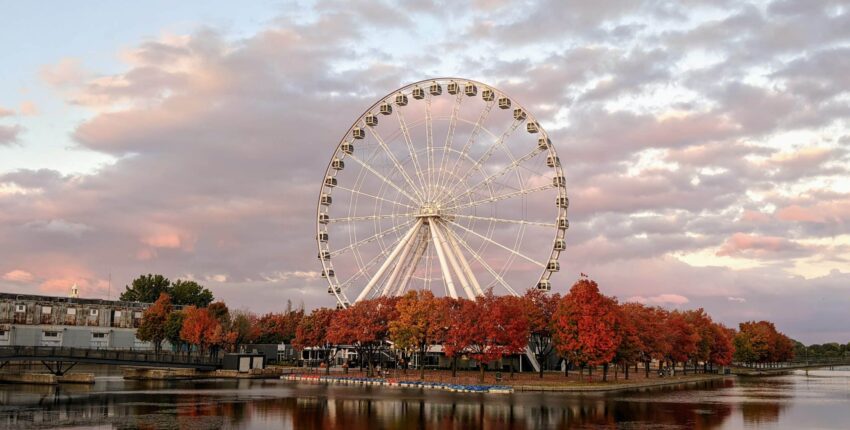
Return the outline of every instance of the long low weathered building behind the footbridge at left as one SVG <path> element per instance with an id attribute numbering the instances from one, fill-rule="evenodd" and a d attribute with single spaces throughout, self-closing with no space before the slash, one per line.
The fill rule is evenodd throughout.
<path id="1" fill-rule="evenodd" d="M 151 349 L 136 339 L 148 303 L 0 293 L 0 346 Z"/>

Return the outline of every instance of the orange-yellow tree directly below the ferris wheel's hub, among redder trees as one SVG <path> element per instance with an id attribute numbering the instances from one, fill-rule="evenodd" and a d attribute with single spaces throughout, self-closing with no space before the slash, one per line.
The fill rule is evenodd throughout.
<path id="1" fill-rule="evenodd" d="M 419 354 L 419 378 L 425 379 L 428 347 L 448 331 L 444 302 L 427 290 L 410 291 L 396 303 L 398 318 L 390 322 L 390 340 L 397 348 Z"/>

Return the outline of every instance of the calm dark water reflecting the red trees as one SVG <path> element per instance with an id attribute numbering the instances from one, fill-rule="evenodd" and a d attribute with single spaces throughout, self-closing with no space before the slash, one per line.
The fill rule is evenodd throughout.
<path id="1" fill-rule="evenodd" d="M 279 380 L 0 385 L 0 428 L 850 428 L 850 368 L 627 393 L 461 394 Z"/>

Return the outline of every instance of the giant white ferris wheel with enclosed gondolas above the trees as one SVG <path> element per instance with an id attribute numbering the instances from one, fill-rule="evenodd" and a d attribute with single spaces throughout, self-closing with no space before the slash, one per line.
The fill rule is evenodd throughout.
<path id="1" fill-rule="evenodd" d="M 317 204 L 322 277 L 338 307 L 410 289 L 548 291 L 568 206 L 555 147 L 515 99 L 468 79 L 410 84 L 333 151 Z"/>

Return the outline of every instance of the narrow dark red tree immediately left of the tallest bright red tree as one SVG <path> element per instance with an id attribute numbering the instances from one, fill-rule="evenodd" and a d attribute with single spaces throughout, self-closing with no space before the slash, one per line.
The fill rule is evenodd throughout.
<path id="1" fill-rule="evenodd" d="M 523 296 L 525 314 L 529 324 L 529 347 L 540 366 L 540 378 L 543 368 L 554 351 L 552 343 L 552 318 L 560 302 L 560 294 L 548 294 L 543 290 L 531 288 Z"/>

